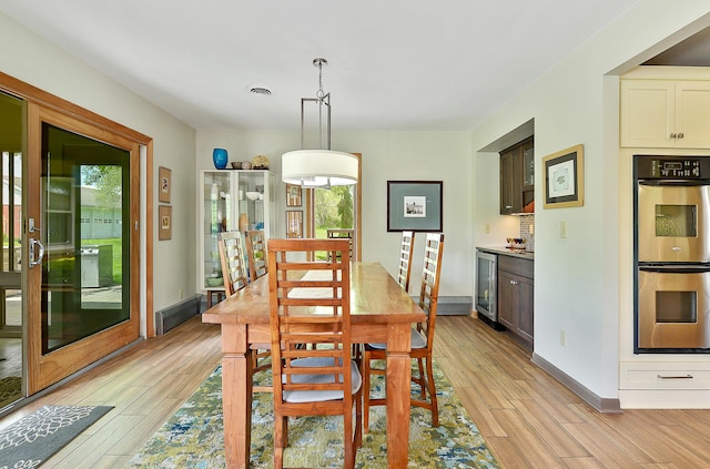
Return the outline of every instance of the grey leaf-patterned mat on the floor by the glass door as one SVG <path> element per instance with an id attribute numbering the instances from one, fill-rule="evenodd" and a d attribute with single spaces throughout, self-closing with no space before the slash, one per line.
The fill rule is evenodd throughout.
<path id="1" fill-rule="evenodd" d="M 44 406 L 0 429 L 0 468 L 39 467 L 112 408 Z"/>

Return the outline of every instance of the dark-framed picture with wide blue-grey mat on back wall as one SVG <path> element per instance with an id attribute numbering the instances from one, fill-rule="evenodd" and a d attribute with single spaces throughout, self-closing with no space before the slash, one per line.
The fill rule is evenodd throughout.
<path id="1" fill-rule="evenodd" d="M 387 231 L 440 232 L 444 182 L 387 181 Z"/>

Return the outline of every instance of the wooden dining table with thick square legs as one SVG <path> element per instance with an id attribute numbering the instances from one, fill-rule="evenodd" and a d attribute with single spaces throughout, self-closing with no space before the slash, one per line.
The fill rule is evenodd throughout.
<path id="1" fill-rule="evenodd" d="M 222 327 L 222 407 L 227 468 L 248 468 L 252 385 L 255 350 L 268 344 L 268 276 L 240 289 L 202 314 L 203 323 Z M 351 330 L 353 343 L 387 344 L 387 467 L 406 468 L 409 455 L 409 405 L 413 323 L 426 315 L 378 263 L 353 263 Z M 368 390 L 365 389 L 365 392 Z"/>

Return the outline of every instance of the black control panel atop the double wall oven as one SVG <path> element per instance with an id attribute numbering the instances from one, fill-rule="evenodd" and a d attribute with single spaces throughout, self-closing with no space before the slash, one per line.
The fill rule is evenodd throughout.
<path id="1" fill-rule="evenodd" d="M 710 179 L 710 156 L 636 155 L 638 180 L 700 180 Z"/>

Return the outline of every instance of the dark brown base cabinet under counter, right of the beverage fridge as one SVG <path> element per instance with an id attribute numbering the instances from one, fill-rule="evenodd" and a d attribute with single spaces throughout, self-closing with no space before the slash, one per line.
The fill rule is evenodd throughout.
<path id="1" fill-rule="evenodd" d="M 498 256 L 498 323 L 532 348 L 534 262 Z"/>

